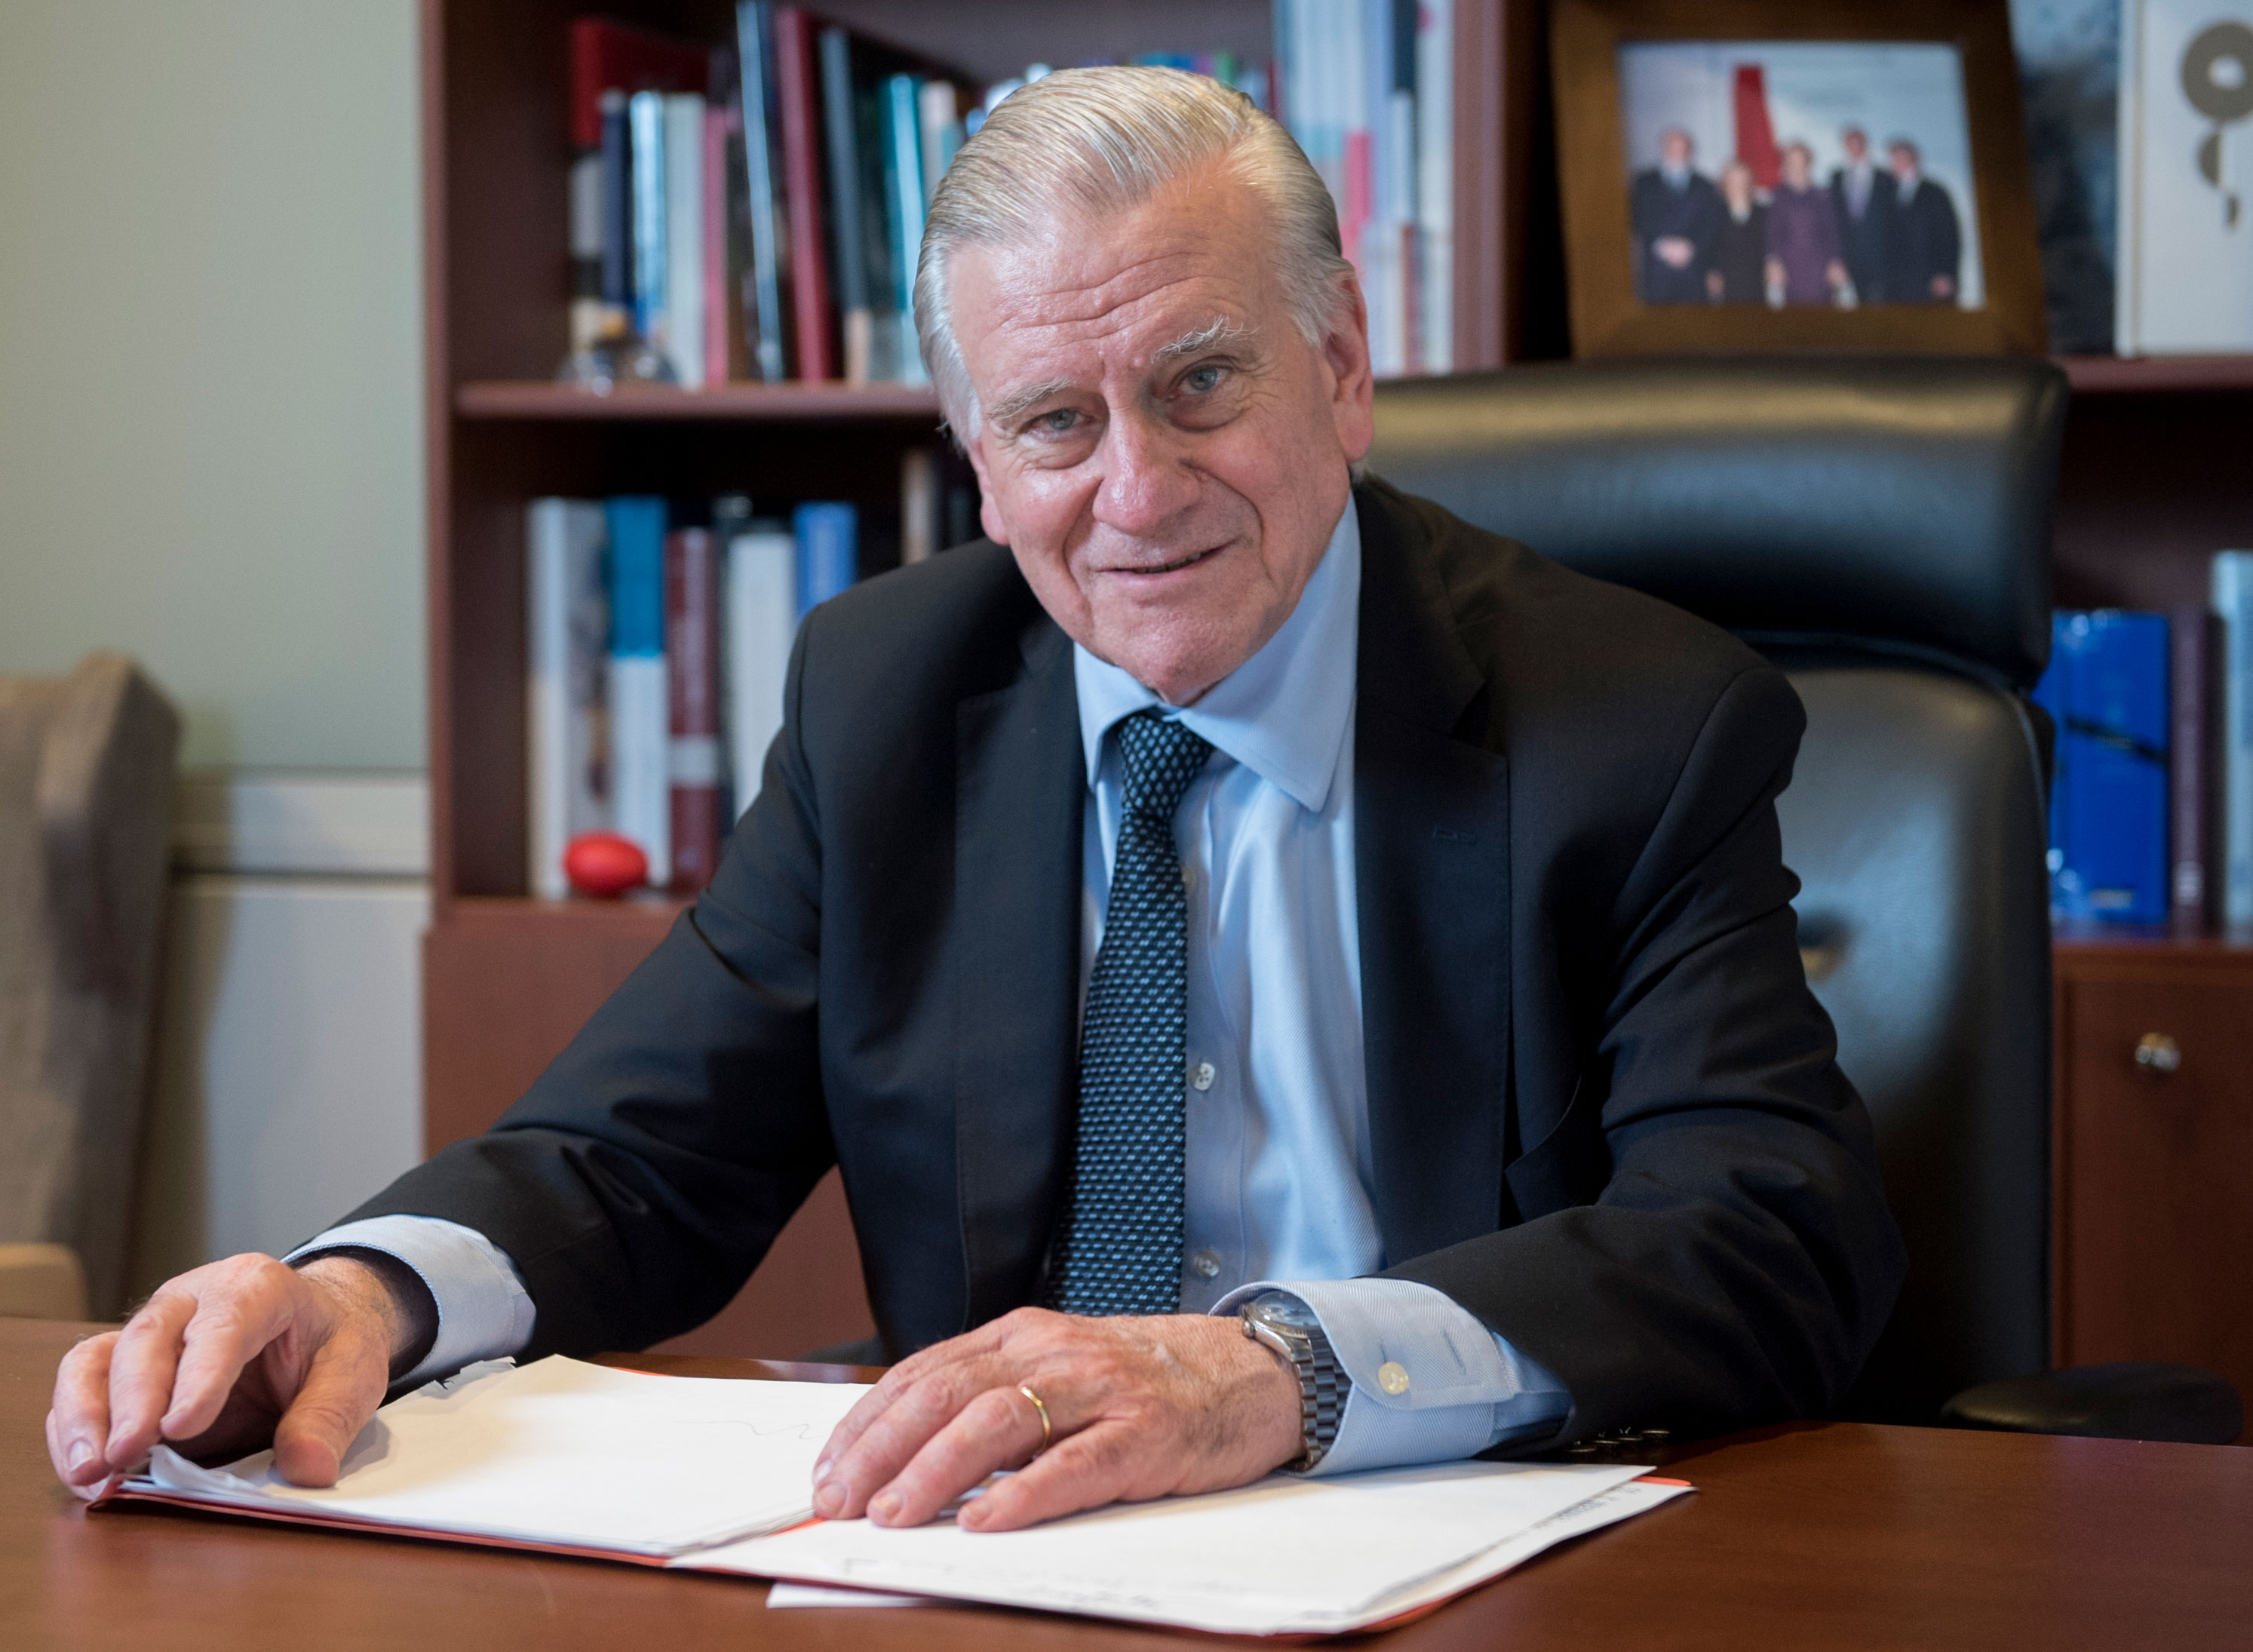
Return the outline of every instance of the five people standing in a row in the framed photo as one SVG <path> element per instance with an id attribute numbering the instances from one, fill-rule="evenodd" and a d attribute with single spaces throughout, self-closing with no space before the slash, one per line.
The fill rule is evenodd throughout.
<path id="1" fill-rule="evenodd" d="M 1645 304 L 1953 304 L 1962 223 L 1924 176 L 1917 144 L 1893 137 L 1879 165 L 1859 126 L 1838 133 L 1845 165 L 1816 178 L 1814 151 L 1778 151 L 1762 189 L 1742 158 L 1697 171 L 1687 131 L 1658 135 L 1658 165 L 1629 192 L 1636 295 Z"/>

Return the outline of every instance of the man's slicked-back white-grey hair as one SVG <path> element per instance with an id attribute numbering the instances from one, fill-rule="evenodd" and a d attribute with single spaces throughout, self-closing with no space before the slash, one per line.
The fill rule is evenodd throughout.
<path id="1" fill-rule="evenodd" d="M 1057 70 L 1005 97 L 940 180 L 915 266 L 915 334 L 955 439 L 978 426 L 946 313 L 946 266 L 964 246 L 1014 246 L 1059 214 L 1106 219 L 1205 167 L 1264 201 L 1275 275 L 1300 336 L 1320 345 L 1352 291 L 1338 207 L 1304 151 L 1244 92 L 1158 68 Z"/>

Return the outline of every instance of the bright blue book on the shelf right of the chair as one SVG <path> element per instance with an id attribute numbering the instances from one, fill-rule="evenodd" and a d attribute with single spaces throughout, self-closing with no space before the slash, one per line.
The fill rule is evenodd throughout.
<path id="1" fill-rule="evenodd" d="M 2057 721 L 2052 913 L 2080 922 L 2165 922 L 2172 908 L 2165 615 L 2059 611 L 2037 699 Z"/>

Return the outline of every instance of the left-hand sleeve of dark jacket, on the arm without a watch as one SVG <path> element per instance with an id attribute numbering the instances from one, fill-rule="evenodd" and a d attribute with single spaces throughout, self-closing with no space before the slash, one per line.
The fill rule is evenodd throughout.
<path id="1" fill-rule="evenodd" d="M 349 1219 L 460 1222 L 516 1262 L 525 1357 L 644 1348 L 716 1314 L 836 1161 L 816 1050 L 820 829 L 784 730 L 712 886 L 484 1136 Z"/>

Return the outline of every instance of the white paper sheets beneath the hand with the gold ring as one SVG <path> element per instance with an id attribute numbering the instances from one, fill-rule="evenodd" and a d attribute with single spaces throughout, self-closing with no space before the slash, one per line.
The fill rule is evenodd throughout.
<path id="1" fill-rule="evenodd" d="M 676 1566 L 1221 1634 L 1338 1634 L 1444 1600 L 1683 1487 L 1640 1467 L 1449 1463 L 1097 1510 L 1025 1533 L 822 1521 Z"/>

